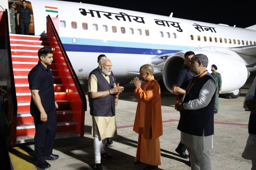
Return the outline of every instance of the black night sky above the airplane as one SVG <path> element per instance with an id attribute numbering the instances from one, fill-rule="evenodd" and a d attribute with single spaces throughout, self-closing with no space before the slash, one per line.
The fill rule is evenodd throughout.
<path id="1" fill-rule="evenodd" d="M 256 24 L 253 1 L 231 0 L 65 0 L 246 28 Z M 157 3 L 156 3 L 157 2 Z M 253 9 L 254 8 L 254 9 Z"/>

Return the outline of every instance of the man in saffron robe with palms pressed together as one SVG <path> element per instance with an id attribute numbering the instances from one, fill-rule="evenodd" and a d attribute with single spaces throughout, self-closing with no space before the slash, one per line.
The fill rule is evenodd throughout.
<path id="1" fill-rule="evenodd" d="M 154 69 L 145 64 L 140 67 L 140 77 L 135 77 L 134 96 L 139 100 L 133 130 L 139 134 L 134 164 L 145 163 L 144 170 L 161 165 L 159 136 L 163 134 L 160 86 L 153 76 Z"/>

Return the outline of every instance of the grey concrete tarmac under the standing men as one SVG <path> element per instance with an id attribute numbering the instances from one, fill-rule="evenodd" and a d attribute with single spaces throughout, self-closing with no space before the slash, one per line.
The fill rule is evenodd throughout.
<path id="1" fill-rule="evenodd" d="M 219 112 L 214 115 L 213 148 L 210 158 L 213 170 L 250 170 L 251 161 L 241 157 L 248 137 L 249 112 L 244 111 L 244 97 L 252 83 L 250 77 L 241 88 L 237 99 L 219 98 Z M 133 131 L 137 99 L 133 96 L 133 84 L 124 86 L 119 95 L 116 107 L 118 137 L 112 138 L 113 144 L 106 144 L 105 151 L 113 155 L 112 159 L 101 158 L 103 170 L 142 170 L 146 164 L 134 165 L 138 134 Z M 175 152 L 180 142 L 180 131 L 177 129 L 179 112 L 174 109 L 176 95 L 169 92 L 161 94 L 163 135 L 160 136 L 161 160 L 160 170 L 189 170 L 188 159 L 183 159 Z M 87 100 L 88 97 L 86 96 Z M 56 139 L 54 154 L 60 157 L 51 164 L 50 169 L 58 170 L 92 170 L 94 167 L 93 137 L 91 135 L 92 119 L 85 113 L 84 137 Z M 186 151 L 187 153 L 187 151 Z M 13 169 L 40 169 L 34 166 L 33 143 L 9 147 Z M 26 162 L 26 166 L 23 162 Z M 23 167 L 23 165 L 25 167 Z M 31 165 L 31 166 L 28 166 Z M 1 169 L 1 168 L 0 168 Z"/>

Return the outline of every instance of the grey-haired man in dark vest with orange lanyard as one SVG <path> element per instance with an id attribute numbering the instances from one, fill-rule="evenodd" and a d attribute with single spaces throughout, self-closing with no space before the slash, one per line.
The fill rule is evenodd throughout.
<path id="1" fill-rule="evenodd" d="M 209 150 L 214 134 L 214 101 L 216 82 L 206 70 L 208 58 L 196 54 L 190 60 L 190 71 L 195 74 L 188 85 L 183 101 L 175 104 L 180 111 L 178 129 L 181 142 L 190 154 L 192 170 L 211 170 Z"/>

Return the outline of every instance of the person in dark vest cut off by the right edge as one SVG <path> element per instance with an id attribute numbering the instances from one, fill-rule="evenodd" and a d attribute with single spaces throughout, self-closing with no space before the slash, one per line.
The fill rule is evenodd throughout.
<path id="1" fill-rule="evenodd" d="M 252 160 L 252 170 L 256 169 L 256 77 L 252 82 L 251 87 L 249 88 L 245 99 L 244 99 L 244 108 L 246 111 L 250 112 L 248 132 L 249 137 L 244 148 L 242 157 L 245 159 Z"/>

